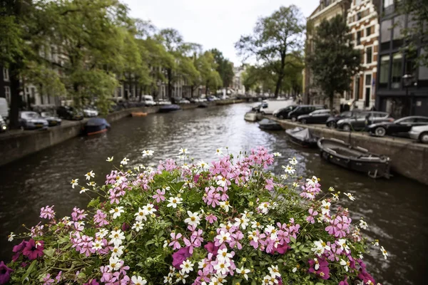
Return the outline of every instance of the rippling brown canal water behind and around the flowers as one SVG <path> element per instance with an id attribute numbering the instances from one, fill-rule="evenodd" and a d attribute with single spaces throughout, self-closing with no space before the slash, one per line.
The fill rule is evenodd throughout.
<path id="1" fill-rule="evenodd" d="M 324 190 L 335 187 L 357 199 L 342 203 L 350 208 L 352 219 L 364 217 L 369 228 L 362 230 L 370 239 L 379 239 L 389 252 L 384 260 L 379 248 L 365 257 L 370 271 L 382 284 L 425 284 L 428 271 L 428 187 L 393 177 L 372 180 L 321 160 L 317 150 L 290 143 L 283 131 L 265 132 L 257 123 L 245 122 L 248 104 L 153 114 L 126 118 L 112 124 L 108 133 L 93 138 L 73 138 L 0 168 L 0 260 L 11 258 L 10 232 L 21 232 L 21 224 L 39 222 L 41 207 L 55 205 L 58 216 L 70 215 L 74 206 L 86 207 L 88 197 L 73 190 L 73 178 L 93 170 L 103 183 L 111 164 L 128 157 L 131 165 L 143 163 L 141 152 L 154 150 L 153 163 L 174 158 L 180 147 L 187 147 L 196 160 L 210 162 L 215 149 L 237 153 L 263 145 L 281 152 L 274 171 L 282 172 L 287 157 L 296 157 L 298 175 L 321 178 Z M 402 157 L 403 160 L 406 157 Z"/>

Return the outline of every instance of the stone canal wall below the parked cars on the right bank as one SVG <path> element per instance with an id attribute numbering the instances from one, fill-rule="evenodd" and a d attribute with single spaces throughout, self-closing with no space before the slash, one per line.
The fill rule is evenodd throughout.
<path id="1" fill-rule="evenodd" d="M 275 120 L 282 128 L 290 129 L 302 127 L 302 124 L 292 123 L 288 120 Z M 368 133 L 342 132 L 332 130 L 322 125 L 304 125 L 320 138 L 336 138 L 343 140 L 350 145 L 364 147 L 370 152 L 387 155 L 391 159 L 392 171 L 405 177 L 417 180 L 424 185 L 428 185 L 428 145 L 417 143 L 414 140 L 402 138 L 372 137 Z"/>

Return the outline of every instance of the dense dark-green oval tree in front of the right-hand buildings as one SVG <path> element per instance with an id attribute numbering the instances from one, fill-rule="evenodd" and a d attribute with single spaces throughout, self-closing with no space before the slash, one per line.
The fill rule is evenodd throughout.
<path id="1" fill-rule="evenodd" d="M 350 90 L 351 78 L 361 68 L 361 53 L 352 47 L 351 39 L 341 15 L 322 21 L 315 31 L 315 51 L 308 57 L 308 64 L 315 86 L 330 99 L 330 108 L 333 108 L 336 93 Z"/>

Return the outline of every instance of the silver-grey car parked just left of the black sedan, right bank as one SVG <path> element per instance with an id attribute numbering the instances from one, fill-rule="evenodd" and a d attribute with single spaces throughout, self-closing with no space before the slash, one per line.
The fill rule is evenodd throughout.
<path id="1" fill-rule="evenodd" d="M 337 121 L 337 128 L 350 132 L 351 130 L 365 130 L 368 125 L 382 122 L 393 122 L 394 118 L 386 112 L 365 111 L 356 113 L 350 118 Z"/>

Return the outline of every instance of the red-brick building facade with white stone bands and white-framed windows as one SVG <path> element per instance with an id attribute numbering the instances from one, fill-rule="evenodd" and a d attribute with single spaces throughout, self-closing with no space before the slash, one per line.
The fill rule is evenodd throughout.
<path id="1" fill-rule="evenodd" d="M 362 71 L 352 78 L 351 91 L 340 98 L 340 109 L 371 109 L 376 97 L 377 55 L 379 51 L 379 0 L 352 0 L 347 25 L 352 43 L 361 51 Z"/>

